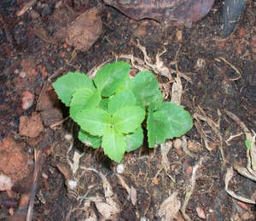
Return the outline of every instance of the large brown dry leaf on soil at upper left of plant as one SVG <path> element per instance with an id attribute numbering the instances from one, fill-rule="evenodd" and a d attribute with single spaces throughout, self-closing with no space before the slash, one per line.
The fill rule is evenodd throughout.
<path id="1" fill-rule="evenodd" d="M 99 8 L 91 8 L 85 11 L 71 25 L 57 31 L 55 37 L 81 51 L 87 51 L 102 33 L 100 13 Z"/>

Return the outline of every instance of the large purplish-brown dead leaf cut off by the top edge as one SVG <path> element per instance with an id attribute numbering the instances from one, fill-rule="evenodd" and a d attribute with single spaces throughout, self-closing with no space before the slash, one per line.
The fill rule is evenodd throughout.
<path id="1" fill-rule="evenodd" d="M 201 20 L 212 8 L 214 0 L 104 0 L 105 3 L 118 8 L 134 20 L 153 19 L 159 21 L 176 20 L 177 23 L 191 27 L 192 22 Z"/>

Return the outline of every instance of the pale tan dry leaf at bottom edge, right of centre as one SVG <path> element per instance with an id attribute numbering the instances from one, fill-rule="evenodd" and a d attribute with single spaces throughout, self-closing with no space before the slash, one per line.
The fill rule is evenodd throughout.
<path id="1" fill-rule="evenodd" d="M 162 202 L 157 215 L 161 218 L 161 221 L 173 220 L 173 218 L 177 218 L 180 207 L 181 202 L 177 199 L 177 191 L 175 191 Z"/>

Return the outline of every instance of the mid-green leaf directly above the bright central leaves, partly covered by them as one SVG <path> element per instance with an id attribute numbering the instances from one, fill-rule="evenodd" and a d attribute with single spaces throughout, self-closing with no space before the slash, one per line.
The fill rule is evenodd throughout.
<path id="1" fill-rule="evenodd" d="M 108 112 L 113 114 L 124 106 L 136 105 L 136 97 L 131 91 L 121 91 L 108 99 Z"/>

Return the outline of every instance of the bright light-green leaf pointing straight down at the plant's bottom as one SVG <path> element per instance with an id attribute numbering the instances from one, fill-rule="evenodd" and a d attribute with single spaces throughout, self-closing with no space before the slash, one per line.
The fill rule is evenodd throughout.
<path id="1" fill-rule="evenodd" d="M 102 137 L 102 148 L 111 160 L 120 162 L 125 155 L 125 136 L 111 128 Z"/>

